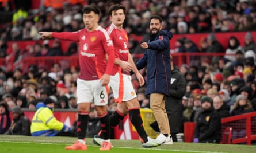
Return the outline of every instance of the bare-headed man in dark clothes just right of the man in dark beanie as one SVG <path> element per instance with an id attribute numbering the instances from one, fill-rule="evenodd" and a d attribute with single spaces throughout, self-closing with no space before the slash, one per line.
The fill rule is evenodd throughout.
<path id="1" fill-rule="evenodd" d="M 213 107 L 221 118 L 230 116 L 230 107 L 224 103 L 220 96 L 213 97 Z"/>

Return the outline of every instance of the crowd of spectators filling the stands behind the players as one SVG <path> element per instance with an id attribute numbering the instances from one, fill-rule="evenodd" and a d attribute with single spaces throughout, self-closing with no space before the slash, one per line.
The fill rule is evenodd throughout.
<path id="1" fill-rule="evenodd" d="M 1 2 L 1 1 L 0 1 Z M 83 1 L 84 2 L 84 1 Z M 107 14 L 108 6 L 120 2 L 128 9 L 124 24 L 128 34 L 148 34 L 148 19 L 153 14 L 163 18 L 163 28 L 175 33 L 203 33 L 203 32 L 231 32 L 256 30 L 255 1 L 93 1 L 102 11 L 100 25 L 106 28 L 109 25 Z M 25 3 L 25 1 L 24 1 Z M 90 3 L 90 2 L 86 2 Z M 0 5 L 2 11 L 6 5 Z M 10 6 L 9 6 L 10 7 Z M 8 8 L 9 8 L 8 7 Z M 12 8 L 12 7 L 11 7 Z M 18 8 L 18 7 L 17 7 Z M 72 56 L 77 55 L 77 44 L 71 43 L 70 48 L 63 52 L 60 42 L 54 40 L 50 47 L 48 41 L 21 50 L 17 43 L 13 43 L 10 52 L 7 52 L 7 41 L 39 40 L 40 31 L 74 32 L 83 28 L 82 5 L 63 3 L 62 9 L 41 6 L 39 10 L 26 10 L 23 16 L 0 30 L 0 57 L 13 58 L 18 61 L 26 56 Z M 23 10 L 23 11 L 24 11 Z M 18 10 L 8 10 L 17 13 Z M 256 45 L 250 32 L 244 37 L 245 46 L 241 46 L 236 37 L 230 37 L 225 56 L 217 56 L 212 61 L 204 62 L 191 57 L 191 65 L 181 65 L 179 70 L 187 81 L 184 104 L 184 120 L 196 121 L 201 111 L 201 97 L 207 95 L 212 98 L 213 106 L 223 101 L 223 107 L 228 115 L 256 110 L 256 78 L 255 61 Z M 131 40 L 130 48 L 136 48 Z M 204 44 L 204 42 L 206 44 Z M 216 52 L 221 48 L 213 33 L 210 33 L 201 46 L 195 46 L 192 40 L 179 39 L 174 52 Z M 211 43 L 211 44 L 208 44 Z M 135 45 L 135 46 L 133 46 Z M 197 51 L 194 51 L 197 50 Z M 213 51 L 215 50 L 215 51 Z M 225 49 L 223 53 L 225 52 Z M 22 55 L 22 56 L 21 56 Z M 175 61 L 175 57 L 174 57 Z M 195 64 L 196 63 L 196 64 Z M 174 63 L 175 64 L 175 63 Z M 197 66 L 193 66 L 197 65 Z M 198 66 L 201 65 L 201 66 Z M 6 72 L 0 69 L 0 97 L 6 109 L 15 106 L 35 110 L 38 102 L 45 97 L 55 101 L 56 108 L 73 109 L 76 104 L 76 80 L 79 68 L 62 68 L 60 63 L 54 63 L 51 70 L 44 65 L 30 65 L 28 70 L 16 68 Z M 140 71 L 146 77 L 147 70 Z M 150 101 L 145 95 L 145 87 L 139 87 L 137 80 L 132 76 L 138 99 L 142 108 L 149 108 Z M 219 96 L 219 99 L 214 97 Z M 113 95 L 109 94 L 109 111 L 116 110 Z M 92 106 L 93 110 L 93 106 Z M 219 108 L 216 107 L 216 110 Z M 227 113 L 226 113 L 227 114 Z"/>

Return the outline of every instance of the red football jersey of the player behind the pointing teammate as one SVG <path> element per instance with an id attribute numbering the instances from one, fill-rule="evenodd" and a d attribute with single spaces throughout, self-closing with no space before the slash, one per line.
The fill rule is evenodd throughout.
<path id="1" fill-rule="evenodd" d="M 116 58 L 120 58 L 122 61 L 128 61 L 129 42 L 127 32 L 122 29 L 118 29 L 113 23 L 106 28 L 114 44 L 114 51 Z M 114 65 L 112 72 L 116 72 L 119 69 L 119 65 Z M 129 74 L 122 70 L 122 73 Z"/>

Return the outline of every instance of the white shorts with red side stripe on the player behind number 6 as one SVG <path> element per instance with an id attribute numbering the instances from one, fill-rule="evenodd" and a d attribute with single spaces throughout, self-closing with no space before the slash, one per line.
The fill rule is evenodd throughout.
<path id="1" fill-rule="evenodd" d="M 109 84 L 113 91 L 114 100 L 117 103 L 137 97 L 132 85 L 132 78 L 127 74 L 117 72 L 114 76 L 110 76 Z"/>

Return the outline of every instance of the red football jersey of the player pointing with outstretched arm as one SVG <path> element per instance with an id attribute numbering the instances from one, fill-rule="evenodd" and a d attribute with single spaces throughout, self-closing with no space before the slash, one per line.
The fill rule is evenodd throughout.
<path id="1" fill-rule="evenodd" d="M 112 74 L 115 59 L 113 41 L 101 26 L 93 32 L 88 32 L 86 28 L 78 32 L 53 32 L 52 37 L 79 41 L 80 79 L 96 80 L 104 73 Z M 106 62 L 106 54 L 108 54 L 108 62 Z"/>

